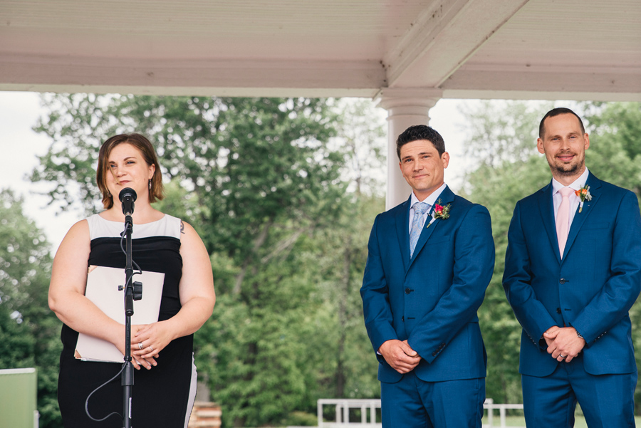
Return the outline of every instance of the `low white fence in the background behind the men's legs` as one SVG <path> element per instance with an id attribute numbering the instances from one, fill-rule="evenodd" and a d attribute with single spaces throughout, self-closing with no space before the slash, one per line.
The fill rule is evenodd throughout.
<path id="1" fill-rule="evenodd" d="M 325 405 L 335 406 L 335 420 L 333 422 L 323 420 L 323 406 Z M 488 398 L 483 407 L 487 409 L 487 424 L 484 424 L 484 427 L 494 427 L 494 412 L 499 410 L 499 427 L 507 428 L 506 409 L 523 409 L 523 404 L 495 404 L 494 400 Z M 350 409 L 360 409 L 360 422 L 350 422 Z M 376 422 L 377 409 L 380 409 L 380 400 L 322 398 L 316 404 L 318 428 L 380 428 L 381 424 Z"/>

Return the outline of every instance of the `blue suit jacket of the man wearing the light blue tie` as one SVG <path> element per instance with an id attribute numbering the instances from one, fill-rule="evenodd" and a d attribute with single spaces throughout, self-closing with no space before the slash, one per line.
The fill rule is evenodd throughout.
<path id="1" fill-rule="evenodd" d="M 368 244 L 363 311 L 375 351 L 390 339 L 408 340 L 422 357 L 425 381 L 485 377 L 486 354 L 476 310 L 494 270 L 489 212 L 446 187 L 448 219 L 425 222 L 410 259 L 410 199 L 376 217 Z M 378 379 L 402 375 L 381 355 Z"/>

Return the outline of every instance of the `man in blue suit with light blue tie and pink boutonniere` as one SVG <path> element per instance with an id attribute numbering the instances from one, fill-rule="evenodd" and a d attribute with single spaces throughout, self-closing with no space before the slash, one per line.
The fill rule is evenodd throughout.
<path id="1" fill-rule="evenodd" d="M 444 184 L 449 154 L 431 127 L 405 130 L 397 155 L 413 192 L 376 217 L 360 289 L 382 426 L 480 428 L 486 353 L 476 310 L 494 270 L 489 212 Z"/>

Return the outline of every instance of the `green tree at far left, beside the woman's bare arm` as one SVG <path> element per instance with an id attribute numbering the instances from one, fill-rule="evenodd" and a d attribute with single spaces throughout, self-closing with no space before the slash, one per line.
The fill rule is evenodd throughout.
<path id="1" fill-rule="evenodd" d="M 0 191 L 0 242 L 0 367 L 36 367 L 40 426 L 58 427 L 61 323 L 47 303 L 49 244 L 24 215 L 21 197 L 6 189 Z"/>

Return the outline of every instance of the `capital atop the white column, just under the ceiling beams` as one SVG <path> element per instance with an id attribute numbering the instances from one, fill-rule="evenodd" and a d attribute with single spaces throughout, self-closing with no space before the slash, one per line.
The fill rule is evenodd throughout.
<path id="1" fill-rule="evenodd" d="M 374 99 L 385 110 L 407 110 L 400 114 L 423 114 L 443 96 L 443 90 L 434 88 L 381 88 Z"/>

